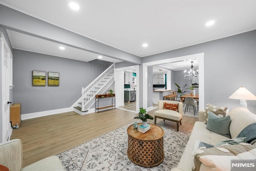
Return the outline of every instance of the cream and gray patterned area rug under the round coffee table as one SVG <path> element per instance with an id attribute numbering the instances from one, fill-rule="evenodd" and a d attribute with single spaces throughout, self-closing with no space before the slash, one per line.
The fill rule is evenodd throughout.
<path id="1" fill-rule="evenodd" d="M 100 137 L 58 154 L 67 171 L 170 171 L 176 167 L 186 147 L 190 133 L 158 125 L 164 129 L 164 161 L 152 168 L 135 165 L 127 156 L 127 128 L 124 125 Z"/>

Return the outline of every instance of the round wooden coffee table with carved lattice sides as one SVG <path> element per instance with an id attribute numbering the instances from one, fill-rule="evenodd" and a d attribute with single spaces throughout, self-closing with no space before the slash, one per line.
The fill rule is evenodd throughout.
<path id="1" fill-rule="evenodd" d="M 164 160 L 164 130 L 157 125 L 148 124 L 150 129 L 145 133 L 134 129 L 133 125 L 127 128 L 127 155 L 136 165 L 155 167 Z"/>

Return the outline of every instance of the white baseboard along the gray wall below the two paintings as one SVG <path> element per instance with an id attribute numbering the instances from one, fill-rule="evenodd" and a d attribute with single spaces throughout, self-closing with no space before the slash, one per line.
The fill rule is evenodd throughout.
<path id="1" fill-rule="evenodd" d="M 48 116 L 48 115 L 55 115 L 58 113 L 64 113 L 64 112 L 69 112 L 69 111 L 73 111 L 73 107 L 48 110 L 48 111 L 40 111 L 40 112 L 35 112 L 35 113 L 26 113 L 26 114 L 21 115 L 21 120 L 32 119 L 32 118 Z"/>

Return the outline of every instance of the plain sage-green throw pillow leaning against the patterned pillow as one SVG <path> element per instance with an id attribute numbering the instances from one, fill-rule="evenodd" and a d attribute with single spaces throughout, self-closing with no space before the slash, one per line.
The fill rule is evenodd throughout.
<path id="1" fill-rule="evenodd" d="M 209 111 L 208 113 L 208 122 L 206 125 L 206 129 L 223 135 L 225 137 L 231 138 L 229 132 L 229 125 L 231 119 L 230 116 L 227 117 L 218 117 Z"/>

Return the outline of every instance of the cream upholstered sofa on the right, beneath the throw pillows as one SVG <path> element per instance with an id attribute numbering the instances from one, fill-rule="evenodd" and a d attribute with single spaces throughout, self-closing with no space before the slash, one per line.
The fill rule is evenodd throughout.
<path id="1" fill-rule="evenodd" d="M 237 107 L 229 112 L 230 123 L 230 135 L 232 138 L 236 138 L 238 134 L 248 125 L 256 123 L 256 115 L 251 113 L 248 109 L 243 107 Z M 191 171 L 193 162 L 193 151 L 195 141 L 202 141 L 211 145 L 216 145 L 220 141 L 228 140 L 228 137 L 224 137 L 212 131 L 206 129 L 204 123 L 204 111 L 199 112 L 199 121 L 197 121 L 192 129 L 190 138 L 185 147 L 184 153 L 180 159 L 178 166 L 172 171 Z M 256 142 L 253 144 L 256 145 Z"/>

